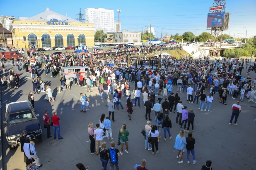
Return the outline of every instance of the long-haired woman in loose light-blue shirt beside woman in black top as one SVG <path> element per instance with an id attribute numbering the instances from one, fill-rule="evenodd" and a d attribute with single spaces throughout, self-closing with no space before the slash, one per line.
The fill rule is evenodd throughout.
<path id="1" fill-rule="evenodd" d="M 181 130 L 179 132 L 179 135 L 176 136 L 174 148 L 178 149 L 178 155 L 176 158 L 179 158 L 179 163 L 183 163 L 181 161 L 182 155 L 183 155 L 183 149 L 186 147 L 186 138 L 185 138 L 185 130 Z"/>

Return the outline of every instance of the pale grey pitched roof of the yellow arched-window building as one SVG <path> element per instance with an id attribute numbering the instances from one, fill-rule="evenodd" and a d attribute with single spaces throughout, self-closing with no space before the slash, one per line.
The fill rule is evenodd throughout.
<path id="1" fill-rule="evenodd" d="M 66 17 L 65 15 L 61 15 L 61 14 L 58 14 L 56 12 L 53 12 L 49 8 L 46 8 L 45 12 L 42 12 L 40 14 L 37 14 L 33 17 L 29 17 L 29 18 L 24 19 L 24 20 L 28 20 L 28 21 L 51 21 L 51 19 L 64 20 L 64 21 L 67 21 L 67 22 L 81 23 L 80 21 L 77 21 L 75 19 Z"/>

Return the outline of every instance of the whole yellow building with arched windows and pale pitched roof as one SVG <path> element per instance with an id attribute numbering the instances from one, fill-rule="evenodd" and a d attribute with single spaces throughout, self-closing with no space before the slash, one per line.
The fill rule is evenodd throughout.
<path id="1" fill-rule="evenodd" d="M 14 20 L 10 27 L 13 45 L 18 48 L 73 47 L 81 43 L 91 47 L 94 46 L 96 29 L 93 24 L 79 22 L 49 9 L 31 18 Z"/>

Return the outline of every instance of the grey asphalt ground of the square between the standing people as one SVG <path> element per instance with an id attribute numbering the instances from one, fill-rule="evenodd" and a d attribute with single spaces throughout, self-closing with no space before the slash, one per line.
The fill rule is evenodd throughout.
<path id="1" fill-rule="evenodd" d="M 12 66 L 7 66 L 11 68 Z M 29 91 L 32 91 L 32 79 L 29 73 L 24 71 L 17 71 L 19 73 L 20 85 L 18 90 L 11 88 L 2 88 L 2 121 L 5 120 L 5 104 L 16 101 L 27 100 Z M 8 71 L 8 70 L 7 70 Z M 245 76 L 245 71 L 243 71 Z M 108 115 L 108 107 L 106 106 L 108 99 L 100 99 L 98 88 L 92 88 L 92 92 L 88 93 L 85 87 L 78 85 L 71 85 L 71 90 L 63 90 L 62 93 L 57 93 L 57 86 L 61 86 L 60 78 L 51 78 L 50 74 L 47 76 L 42 73 L 41 78 L 46 84 L 51 85 L 50 88 L 54 90 L 53 97 L 57 102 L 47 102 L 47 97 L 44 92 L 34 94 L 35 110 L 39 114 L 40 123 L 43 125 L 44 110 L 49 111 L 49 116 L 53 111 L 57 111 L 60 120 L 61 137 L 62 140 L 54 140 L 47 138 L 46 129 L 43 129 L 43 142 L 36 143 L 37 156 L 40 158 L 40 163 L 43 167 L 40 170 L 75 170 L 77 163 L 89 165 L 89 170 L 100 170 L 101 161 L 99 155 L 90 154 L 89 134 L 87 125 L 92 122 L 94 127 L 99 123 L 99 118 L 102 113 Z M 8 74 L 7 74 L 8 75 Z M 1 73 L 2 76 L 2 73 Z M 256 74 L 251 72 L 250 77 L 254 78 Z M 134 88 L 134 83 L 131 83 Z M 173 87 L 173 92 L 176 93 L 177 86 Z M 255 88 L 254 88 L 255 89 Z M 84 92 L 89 97 L 89 111 L 87 113 L 80 112 L 80 92 Z M 206 94 L 208 94 L 208 89 Z M 176 113 L 169 113 L 169 118 L 172 122 L 170 130 L 172 139 L 167 137 L 164 141 L 164 132 L 162 130 L 159 142 L 159 153 L 152 155 L 151 151 L 145 149 L 145 139 L 141 134 L 145 127 L 147 120 L 145 120 L 145 109 L 143 107 L 142 96 L 140 97 L 140 104 L 142 107 L 135 107 L 135 111 L 129 120 L 126 109 L 116 109 L 115 120 L 111 122 L 114 141 L 118 140 L 118 131 L 122 124 L 127 125 L 130 133 L 128 136 L 129 153 L 123 151 L 123 155 L 118 158 L 120 161 L 121 170 L 132 170 L 134 165 L 140 164 L 142 159 L 146 159 L 146 168 L 149 170 L 200 170 L 202 165 L 205 165 L 207 160 L 211 160 L 212 168 L 214 170 L 253 170 L 256 167 L 256 144 L 255 135 L 256 130 L 256 109 L 250 107 L 251 103 L 247 103 L 248 99 L 241 102 L 241 114 L 238 118 L 238 125 L 229 125 L 229 120 L 232 114 L 232 104 L 237 100 L 227 96 L 227 105 L 222 105 L 217 102 L 217 93 L 213 96 L 214 101 L 211 105 L 210 111 L 199 111 L 198 105 L 186 102 L 186 94 L 179 94 L 183 105 L 188 106 L 188 109 L 193 109 L 195 113 L 194 121 L 194 138 L 195 156 L 197 163 L 187 165 L 187 153 L 184 153 L 182 160 L 184 163 L 179 164 L 176 158 L 177 150 L 174 148 L 175 138 L 179 134 L 181 128 L 175 123 Z M 125 106 L 125 97 L 121 100 Z M 155 112 L 151 112 L 152 124 L 154 121 Z M 5 125 L 2 125 L 4 132 L 6 132 Z M 53 128 L 51 128 L 53 135 Z M 186 132 L 186 137 L 187 137 Z M 4 134 L 3 134 L 4 135 Z M 168 136 L 168 135 L 167 135 Z M 104 138 L 107 147 L 110 147 L 110 140 Z M 49 146 L 50 145 L 50 146 Z M 120 150 L 120 146 L 116 146 Z M 4 170 L 24 170 L 25 163 L 23 162 L 23 153 L 18 146 L 14 150 L 9 150 L 5 135 L 2 137 L 3 149 L 3 169 Z M 124 147 L 125 150 L 125 147 Z M 190 156 L 192 161 L 192 155 Z M 108 168 L 109 170 L 109 163 Z"/>

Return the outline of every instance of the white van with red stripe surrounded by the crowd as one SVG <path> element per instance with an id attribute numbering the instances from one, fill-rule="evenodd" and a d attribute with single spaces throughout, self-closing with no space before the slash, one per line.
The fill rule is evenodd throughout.
<path id="1" fill-rule="evenodd" d="M 75 80 L 75 74 L 80 73 L 82 76 L 85 76 L 87 73 L 88 67 L 87 66 L 72 66 L 72 67 L 62 67 L 60 70 L 60 75 L 63 74 L 66 79 L 69 79 L 70 82 Z M 90 71 L 91 73 L 91 71 Z"/>

